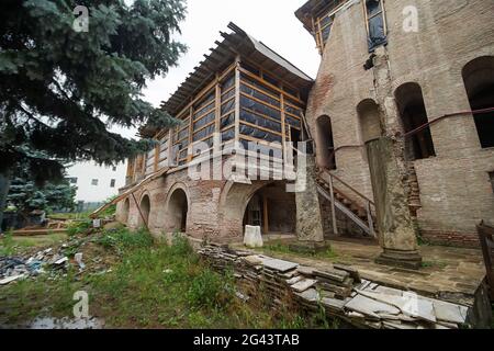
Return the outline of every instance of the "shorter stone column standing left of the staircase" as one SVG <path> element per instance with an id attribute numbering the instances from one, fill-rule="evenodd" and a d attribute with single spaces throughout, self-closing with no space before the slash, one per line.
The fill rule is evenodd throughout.
<path id="1" fill-rule="evenodd" d="M 322 251 L 329 248 L 324 240 L 323 220 L 316 185 L 314 155 L 305 155 L 305 162 L 296 168 L 295 204 L 296 239 L 292 249 L 299 251 Z M 303 165 L 305 163 L 305 165 Z"/>

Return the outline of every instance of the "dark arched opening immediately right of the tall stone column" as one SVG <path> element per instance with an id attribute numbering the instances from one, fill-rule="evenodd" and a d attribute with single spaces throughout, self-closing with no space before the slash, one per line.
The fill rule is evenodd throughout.
<path id="1" fill-rule="evenodd" d="M 427 124 L 420 86 L 412 82 L 400 86 L 395 91 L 395 99 L 405 134 Z M 429 126 L 406 136 L 405 152 L 408 160 L 436 156 Z"/>

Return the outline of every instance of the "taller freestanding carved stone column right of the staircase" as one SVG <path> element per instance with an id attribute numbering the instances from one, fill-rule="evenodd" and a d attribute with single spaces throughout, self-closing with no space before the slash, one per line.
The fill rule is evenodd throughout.
<path id="1" fill-rule="evenodd" d="M 408 197 L 393 156 L 393 140 L 381 137 L 366 144 L 378 215 L 379 244 L 383 252 L 377 262 L 418 269 L 422 258 L 408 208 Z"/>

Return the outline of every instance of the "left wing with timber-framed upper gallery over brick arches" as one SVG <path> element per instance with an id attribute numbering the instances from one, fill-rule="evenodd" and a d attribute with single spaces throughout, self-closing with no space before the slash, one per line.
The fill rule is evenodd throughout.
<path id="1" fill-rule="evenodd" d="M 229 29 L 162 104 L 182 123 L 141 129 L 159 143 L 130 162 L 117 206 L 128 226 L 215 240 L 242 239 L 245 224 L 294 233 L 295 197 L 283 176 L 293 166 L 283 169 L 282 161 L 292 152 L 287 143 L 300 138 L 313 80 L 233 23 Z M 245 148 L 244 158 L 234 145 Z M 261 159 L 247 170 L 245 158 L 257 152 Z"/>

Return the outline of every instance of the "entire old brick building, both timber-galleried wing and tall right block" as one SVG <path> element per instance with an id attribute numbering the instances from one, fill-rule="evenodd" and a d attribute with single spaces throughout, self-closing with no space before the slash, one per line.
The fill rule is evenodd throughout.
<path id="1" fill-rule="evenodd" d="M 198 172 L 223 169 L 234 141 L 271 143 L 268 165 L 287 161 L 288 143 L 307 134 L 316 146 L 325 234 L 372 237 L 366 143 L 388 136 L 417 234 L 475 245 L 475 225 L 494 218 L 492 2 L 311 0 L 295 14 L 322 55 L 315 81 L 232 24 L 162 105 L 183 124 L 142 128 L 159 144 L 130 162 L 120 220 L 198 239 L 242 238 L 245 224 L 293 234 L 290 179 L 271 172 L 266 180 L 194 180 L 190 166 L 216 155 Z"/>

